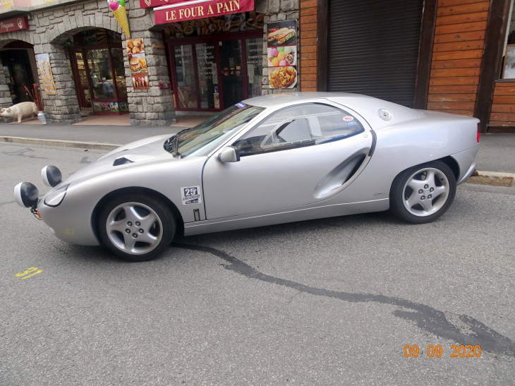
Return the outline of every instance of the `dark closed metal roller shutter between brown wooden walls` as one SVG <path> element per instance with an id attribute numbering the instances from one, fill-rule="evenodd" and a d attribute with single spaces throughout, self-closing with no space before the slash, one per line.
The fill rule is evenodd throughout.
<path id="1" fill-rule="evenodd" d="M 329 0 L 327 90 L 413 107 L 423 0 Z"/>

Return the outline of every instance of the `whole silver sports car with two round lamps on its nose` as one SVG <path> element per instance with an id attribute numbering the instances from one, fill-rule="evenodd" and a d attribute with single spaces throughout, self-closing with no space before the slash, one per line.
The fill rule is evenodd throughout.
<path id="1" fill-rule="evenodd" d="M 38 200 L 59 239 L 148 260 L 185 236 L 392 210 L 416 224 L 449 208 L 479 150 L 478 119 L 345 93 L 255 97 L 175 135 L 100 157 Z"/>

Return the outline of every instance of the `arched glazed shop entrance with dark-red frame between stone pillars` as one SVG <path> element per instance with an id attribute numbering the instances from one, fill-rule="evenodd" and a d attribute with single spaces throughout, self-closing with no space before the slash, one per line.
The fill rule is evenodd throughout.
<path id="1" fill-rule="evenodd" d="M 121 34 L 88 30 L 64 45 L 80 109 L 92 109 L 95 115 L 128 114 Z"/>

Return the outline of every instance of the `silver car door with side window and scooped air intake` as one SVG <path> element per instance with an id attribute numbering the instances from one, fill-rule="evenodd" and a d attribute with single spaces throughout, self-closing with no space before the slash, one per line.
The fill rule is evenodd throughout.
<path id="1" fill-rule="evenodd" d="M 207 219 L 281 210 L 341 191 L 372 147 L 370 127 L 335 105 L 275 111 L 231 143 L 237 162 L 215 152 L 202 174 Z"/>

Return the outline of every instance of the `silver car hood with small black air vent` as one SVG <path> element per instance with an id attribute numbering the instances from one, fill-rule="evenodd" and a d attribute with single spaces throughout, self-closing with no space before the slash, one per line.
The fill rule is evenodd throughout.
<path id="1" fill-rule="evenodd" d="M 63 183 L 71 183 L 79 179 L 129 167 L 138 167 L 141 164 L 177 161 L 178 158 L 174 158 L 169 152 L 164 150 L 164 141 L 170 138 L 171 135 L 173 134 L 157 135 L 118 147 L 102 155 L 102 157 L 87 165 L 87 167 L 75 172 Z"/>

